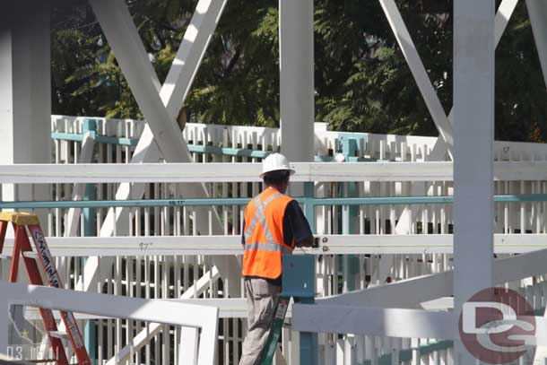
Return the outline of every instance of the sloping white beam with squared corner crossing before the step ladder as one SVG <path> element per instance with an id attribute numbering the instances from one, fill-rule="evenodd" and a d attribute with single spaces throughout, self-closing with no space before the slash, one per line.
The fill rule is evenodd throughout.
<path id="1" fill-rule="evenodd" d="M 56 309 L 97 316 L 157 322 L 200 330 L 198 365 L 213 365 L 217 343 L 218 309 L 173 300 L 143 300 L 107 294 L 65 291 L 44 286 L 0 282 L 0 309 L 9 304 Z M 107 304 L 108 303 L 108 304 Z M 7 313 L 7 311 L 5 312 Z M 0 316 L 2 333 L 6 333 L 8 316 Z M 0 335 L 0 348 L 7 346 Z M 182 343 L 185 345 L 185 343 Z"/>

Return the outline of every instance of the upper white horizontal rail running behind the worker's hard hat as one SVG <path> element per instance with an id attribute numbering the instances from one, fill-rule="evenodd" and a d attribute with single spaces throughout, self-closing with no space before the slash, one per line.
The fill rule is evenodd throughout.
<path id="1" fill-rule="evenodd" d="M 452 162 L 297 162 L 293 181 L 452 181 Z M 252 182 L 260 163 L 0 165 L 0 183 Z M 546 180 L 547 161 L 494 162 L 496 180 Z"/>

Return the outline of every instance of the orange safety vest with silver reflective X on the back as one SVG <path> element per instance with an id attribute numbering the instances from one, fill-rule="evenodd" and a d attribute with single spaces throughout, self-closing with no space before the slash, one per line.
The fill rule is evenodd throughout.
<path id="1" fill-rule="evenodd" d="M 276 189 L 265 189 L 245 208 L 245 253 L 243 275 L 276 279 L 282 273 L 282 255 L 294 249 L 283 238 L 283 214 L 290 196 Z"/>

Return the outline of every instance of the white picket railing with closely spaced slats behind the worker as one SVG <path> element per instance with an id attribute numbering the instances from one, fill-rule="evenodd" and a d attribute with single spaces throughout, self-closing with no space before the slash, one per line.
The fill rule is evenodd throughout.
<path id="1" fill-rule="evenodd" d="M 82 118 L 53 117 L 52 123 L 54 132 L 82 134 Z M 141 121 L 99 119 L 97 133 L 98 135 L 137 139 L 142 130 L 143 122 Z M 195 145 L 217 145 L 232 149 L 259 151 L 276 151 L 281 142 L 278 131 L 273 128 L 188 124 L 184 135 L 188 143 Z M 320 125 L 316 128 L 316 136 L 316 154 L 318 156 L 334 156 L 336 153 L 342 152 L 340 139 L 347 137 L 347 135 L 337 132 L 326 131 L 325 126 Z M 364 137 L 365 134 L 352 135 L 358 147 L 358 152 L 354 157 L 379 161 L 427 161 L 427 156 L 436 140 L 431 137 L 395 135 L 366 135 L 366 140 Z M 57 139 L 54 144 L 56 148 L 55 163 L 74 164 L 82 156 L 81 142 Z M 498 161 L 543 161 L 547 152 L 547 148 L 543 144 L 535 143 L 496 143 L 496 150 Z M 90 162 L 126 163 L 130 161 L 132 153 L 133 147 L 130 144 L 96 143 Z M 256 157 L 237 157 L 211 152 L 193 152 L 193 156 L 195 161 L 203 163 L 259 162 L 261 160 Z M 216 167 L 207 169 L 206 176 L 209 178 L 224 172 L 228 178 L 213 178 L 207 182 L 204 170 L 195 172 L 195 177 L 203 175 L 200 180 L 206 184 L 213 198 L 248 198 L 256 195 L 261 186 L 255 175 L 242 174 L 238 178 L 230 179 L 230 173 L 233 172 L 232 166 L 226 167 L 225 170 Z M 451 172 L 432 173 L 432 170 L 421 169 L 425 166 L 424 164 L 412 164 L 412 169 L 403 169 L 403 167 L 397 166 L 398 172 L 396 174 L 393 173 L 393 170 L 382 172 L 382 169 L 395 166 L 391 162 L 359 165 L 367 171 L 355 175 L 354 178 L 352 178 L 355 170 L 353 165 L 347 165 L 345 171 L 343 164 L 332 163 L 322 166 L 324 166 L 321 168 L 324 178 L 308 179 L 308 181 L 315 181 L 315 195 L 317 197 L 382 196 L 389 198 L 452 195 Z M 364 168 L 365 166 L 367 168 Z M 441 170 L 447 171 L 446 168 Z M 209 173 L 211 171 L 213 172 Z M 496 194 L 522 195 L 545 194 L 547 192 L 547 182 L 537 173 L 524 173 L 515 178 L 515 174 L 511 174 L 510 171 L 506 172 L 505 177 L 499 178 L 495 183 Z M 122 174 L 121 170 L 119 174 Z M 67 172 L 66 175 L 70 176 L 70 173 Z M 330 180 L 325 178 L 329 175 L 334 178 Z M 348 180 L 355 181 L 355 184 L 349 183 Z M 152 182 L 147 183 L 143 199 L 178 199 L 181 186 L 177 183 L 161 182 L 160 179 L 155 182 L 153 179 L 148 181 Z M 81 179 L 78 182 L 85 181 Z M 120 182 L 121 180 L 113 183 L 92 182 L 90 184 L 96 192 L 95 198 L 97 200 L 113 200 Z M 67 183 L 59 180 L 50 186 L 53 200 L 73 199 L 74 184 L 72 181 Z M 518 233 L 534 233 L 534 235 L 525 236 L 528 236 L 528 239 L 535 239 L 535 243 L 541 239 L 541 236 L 536 235 L 546 233 L 545 208 L 544 202 L 496 204 L 496 232 L 517 234 L 511 235 L 511 238 L 515 239 L 514 242 L 517 242 L 514 246 L 515 251 L 511 252 L 530 249 L 519 247 L 521 243 L 518 237 L 521 235 Z M 66 240 L 63 241 L 63 236 L 65 236 L 68 225 L 69 210 L 54 208 L 40 211 L 48 217 L 48 235 L 58 239 L 59 245 L 61 245 L 59 249 L 61 249 L 62 242 L 66 242 Z M 96 224 L 95 232 L 100 230 L 107 211 L 107 208 L 95 209 L 93 214 Z M 181 245 L 186 249 L 187 246 L 184 242 L 187 240 L 181 236 L 197 235 L 198 232 L 193 222 L 197 219 L 211 222 L 214 214 L 211 209 L 209 212 L 204 216 L 197 216 L 186 206 L 137 207 L 132 209 L 130 214 L 127 224 L 129 230 L 119 230 L 117 234 L 135 237 L 136 240 L 145 236 L 146 239 L 140 242 L 135 241 L 136 245 L 143 244 L 142 248 L 149 248 L 150 246 L 145 246 L 149 243 L 156 244 L 156 247 L 160 246 L 158 243 L 160 241 L 155 241 L 154 237 L 174 239 L 180 237 Z M 222 233 L 225 235 L 223 239 L 226 239 L 227 244 L 237 247 L 242 214 L 241 206 L 233 204 L 218 207 L 217 213 L 221 219 Z M 360 235 L 360 243 L 363 243 L 356 245 L 352 256 L 349 256 L 342 255 L 342 251 L 336 251 L 337 241 L 330 239 L 333 245 L 331 252 L 334 254 L 317 256 L 317 289 L 320 296 L 362 289 L 370 285 L 381 285 L 386 281 L 396 281 L 420 274 L 438 273 L 449 269 L 452 265 L 449 249 L 450 239 L 447 239 L 447 234 L 452 230 L 451 204 L 360 204 L 354 208 L 327 204 L 317 206 L 315 213 L 318 234 L 337 238 L 342 248 L 348 247 L 352 240 L 351 237 L 344 235 L 348 233 Z M 80 222 L 81 228 L 76 231 L 76 236 L 81 236 L 84 232 L 83 216 Z M 408 234 L 395 235 L 395 227 Z M 199 233 L 204 234 L 204 232 Z M 430 242 L 429 249 L 418 251 L 418 253 L 416 249 L 419 245 L 415 244 L 417 242 L 415 237 Z M 56 240 L 50 239 L 50 241 L 55 247 Z M 409 248 L 401 248 L 401 251 L 397 251 L 398 248 L 395 247 L 403 241 L 408 242 Z M 115 242 L 118 240 L 112 240 L 112 244 Z M 535 243 L 530 244 L 529 247 L 534 247 Z M 127 245 L 127 248 L 130 248 L 132 247 L 130 245 L 134 245 L 134 243 L 127 243 Z M 392 245 L 392 248 L 387 248 L 389 245 Z M 106 246 L 102 249 L 105 248 Z M 98 248 L 97 252 L 104 251 L 100 251 Z M 139 252 L 128 251 L 126 255 L 117 255 L 115 264 L 103 273 L 96 291 L 132 297 L 173 299 L 178 298 L 201 281 L 201 289 L 193 291 L 195 293 L 192 295 L 193 297 L 202 300 L 204 298 L 227 300 L 230 297 L 230 287 L 225 288 L 224 281 L 214 271 L 209 255 L 197 254 L 195 251 L 185 251 L 184 249 L 177 252 L 169 250 L 164 252 L 165 254 L 162 254 L 161 250 L 157 250 L 154 251 L 154 255 L 147 255 L 144 249 Z M 58 265 L 65 267 L 65 282 L 69 288 L 74 288 L 76 283 L 82 280 L 83 259 L 87 254 L 81 255 L 66 254 L 58 259 Z M 6 265 L 2 261 L 0 261 L 0 265 L 3 265 L 3 272 L 5 272 Z M 207 276 L 208 273 L 209 276 Z M 534 280 L 529 279 L 527 283 L 530 284 L 533 281 L 541 282 L 542 279 L 541 277 Z M 527 285 L 526 282 L 521 282 L 521 284 Z M 221 302 L 219 301 L 219 303 Z M 240 343 L 245 335 L 245 304 L 243 301 L 239 301 L 238 305 L 238 310 L 234 309 L 230 316 L 221 318 L 219 323 L 220 346 L 217 360 L 222 364 L 237 363 L 239 359 Z M 112 319 L 97 319 L 96 324 L 99 329 L 98 359 L 103 362 L 111 359 L 117 351 L 126 346 L 127 339 L 138 334 L 144 327 L 143 323 Z M 147 364 L 172 363 L 174 358 L 170 352 L 177 351 L 177 346 L 174 343 L 177 343 L 179 335 L 180 333 L 175 328 L 169 330 L 163 328 L 159 334 L 152 336 L 152 341 L 143 344 L 141 361 Z M 291 338 L 294 335 L 289 328 L 283 330 L 282 352 L 290 364 L 298 363 L 296 361 L 298 351 L 296 346 L 291 343 Z M 403 349 L 415 349 L 413 352 L 418 353 L 417 345 L 419 343 L 431 341 L 428 339 L 388 339 L 352 335 L 339 338 L 338 335 L 332 334 L 321 335 L 320 339 L 322 359 L 325 360 L 325 363 L 336 364 L 362 363 L 365 359 L 379 359 L 383 355 L 395 354 Z M 437 358 L 449 361 L 449 349 L 427 353 L 425 349 L 426 347 L 421 347 L 422 361 L 426 361 L 426 359 L 433 361 Z"/>

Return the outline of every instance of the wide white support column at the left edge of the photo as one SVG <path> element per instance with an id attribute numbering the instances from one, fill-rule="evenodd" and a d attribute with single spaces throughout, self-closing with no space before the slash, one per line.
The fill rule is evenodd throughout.
<path id="1" fill-rule="evenodd" d="M 49 2 L 25 0 L 3 6 L 0 14 L 0 135 L 3 136 L 0 163 L 49 163 Z M 2 189 L 2 200 L 8 201 L 48 200 L 48 196 L 48 187 L 4 185 Z"/>

